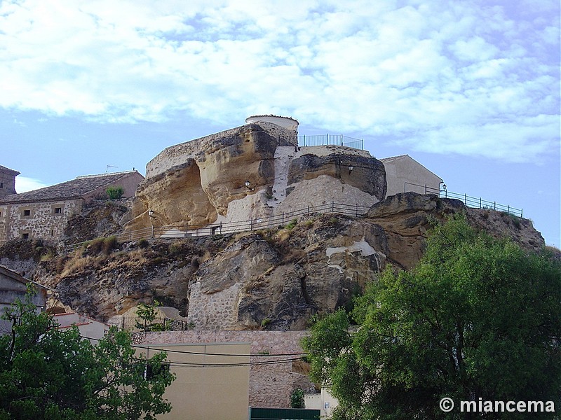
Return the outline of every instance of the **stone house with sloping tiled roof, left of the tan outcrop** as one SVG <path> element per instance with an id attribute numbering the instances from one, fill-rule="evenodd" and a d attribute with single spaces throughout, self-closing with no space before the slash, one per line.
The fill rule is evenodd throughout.
<path id="1" fill-rule="evenodd" d="M 109 187 L 133 197 L 144 176 L 137 171 L 79 176 L 72 181 L 0 199 L 0 241 L 62 237 L 67 221 L 93 200 L 107 199 Z"/>

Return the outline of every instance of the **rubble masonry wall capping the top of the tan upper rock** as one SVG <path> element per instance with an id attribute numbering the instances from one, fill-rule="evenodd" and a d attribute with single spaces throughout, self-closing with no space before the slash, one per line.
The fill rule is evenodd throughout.
<path id="1" fill-rule="evenodd" d="M 246 124 L 165 148 L 146 165 L 146 178 L 149 179 L 158 174 L 163 174 L 173 167 L 184 165 L 189 159 L 201 158 L 205 153 L 212 153 L 219 148 L 224 148 L 228 146 L 228 139 L 238 137 L 240 131 L 248 127 L 255 127 L 256 130 L 259 130 L 260 127 L 267 134 L 276 138 L 279 146 L 297 146 L 298 144 L 297 135 L 292 130 L 265 122 Z"/>

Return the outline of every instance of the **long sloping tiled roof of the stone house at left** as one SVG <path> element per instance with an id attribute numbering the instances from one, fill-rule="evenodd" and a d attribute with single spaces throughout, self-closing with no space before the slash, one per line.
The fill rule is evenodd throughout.
<path id="1" fill-rule="evenodd" d="M 27 193 L 8 195 L 0 200 L 0 204 L 22 202 L 45 202 L 55 200 L 73 200 L 103 186 L 110 186 L 136 171 L 115 172 L 113 174 L 79 176 L 55 186 L 39 188 Z"/>

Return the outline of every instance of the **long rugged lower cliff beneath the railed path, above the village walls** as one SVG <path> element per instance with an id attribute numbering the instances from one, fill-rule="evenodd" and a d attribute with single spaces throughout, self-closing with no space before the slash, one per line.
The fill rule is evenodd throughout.
<path id="1" fill-rule="evenodd" d="M 388 262 L 413 267 L 432 219 L 457 211 L 492 235 L 531 250 L 543 246 L 525 219 L 405 193 L 374 204 L 364 217 L 310 214 L 274 230 L 50 255 L 33 279 L 72 309 L 100 318 L 156 299 L 197 328 L 299 330 L 312 314 L 349 305 Z M 3 251 L 4 264 L 17 262 L 17 255 L 6 258 Z"/>

